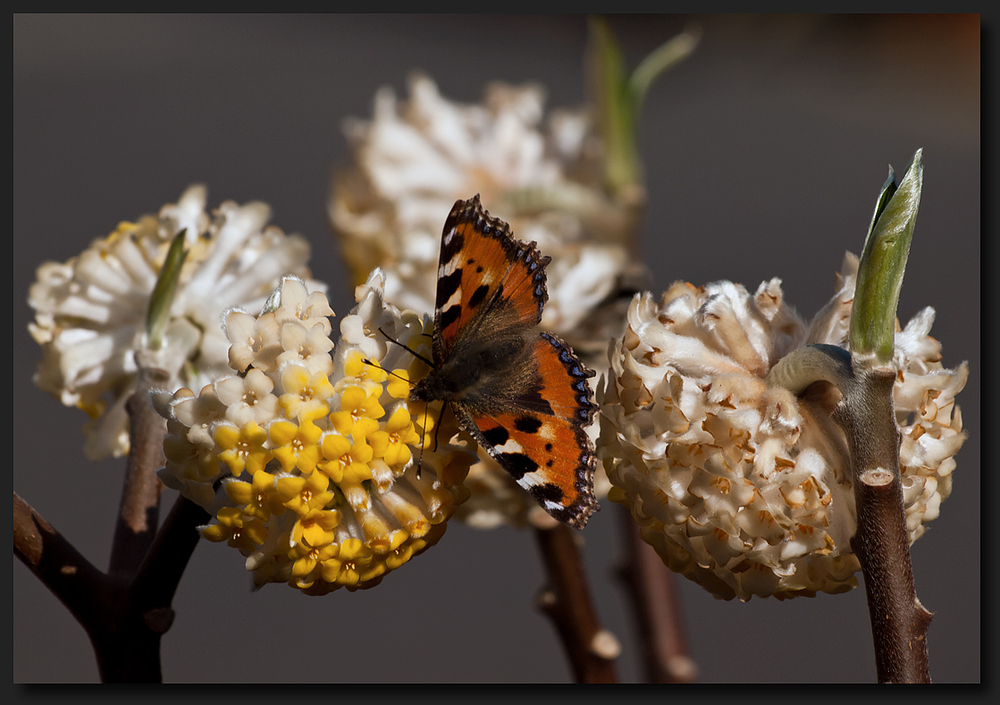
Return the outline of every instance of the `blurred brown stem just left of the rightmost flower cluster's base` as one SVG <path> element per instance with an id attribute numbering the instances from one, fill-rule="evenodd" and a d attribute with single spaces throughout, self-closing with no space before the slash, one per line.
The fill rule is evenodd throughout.
<path id="1" fill-rule="evenodd" d="M 616 509 L 627 546 L 618 577 L 631 597 L 646 679 L 650 683 L 693 683 L 697 668 L 688 654 L 676 578 L 642 540 L 629 510 L 621 506 Z"/>

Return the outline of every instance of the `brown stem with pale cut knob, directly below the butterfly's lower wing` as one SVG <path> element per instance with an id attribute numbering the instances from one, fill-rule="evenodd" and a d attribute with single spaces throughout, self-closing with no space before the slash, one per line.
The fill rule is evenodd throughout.
<path id="1" fill-rule="evenodd" d="M 573 529 L 556 524 L 534 532 L 549 581 L 538 605 L 555 625 L 576 681 L 617 683 L 615 659 L 621 648 L 598 621 Z"/>

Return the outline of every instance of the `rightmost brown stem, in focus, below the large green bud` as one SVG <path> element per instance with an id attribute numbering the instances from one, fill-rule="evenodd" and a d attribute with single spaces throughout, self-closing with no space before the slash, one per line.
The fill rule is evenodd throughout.
<path id="1" fill-rule="evenodd" d="M 891 368 L 863 372 L 833 412 L 851 450 L 858 528 L 851 539 L 865 577 L 880 683 L 929 683 L 927 627 L 917 599 L 899 470 Z"/>

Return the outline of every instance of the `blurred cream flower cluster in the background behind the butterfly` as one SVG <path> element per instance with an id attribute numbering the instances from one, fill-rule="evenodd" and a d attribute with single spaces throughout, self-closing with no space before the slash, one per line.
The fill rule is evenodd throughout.
<path id="1" fill-rule="evenodd" d="M 444 221 L 456 200 L 480 194 L 515 237 L 552 257 L 541 327 L 601 368 L 609 317 L 594 311 L 626 276 L 633 222 L 603 192 L 602 149 L 584 112 L 554 111 L 543 126 L 543 103 L 538 86 L 494 83 L 481 104 L 459 104 L 420 75 L 408 101 L 380 90 L 373 119 L 346 125 L 354 164 L 334 182 L 330 218 L 355 282 L 382 267 L 388 301 L 431 313 Z M 622 317 L 611 318 L 617 334 Z M 596 424 L 591 431 L 596 438 Z M 492 458 L 480 456 L 459 518 L 480 528 L 547 520 Z M 598 497 L 606 494 L 601 469 L 595 486 Z"/>

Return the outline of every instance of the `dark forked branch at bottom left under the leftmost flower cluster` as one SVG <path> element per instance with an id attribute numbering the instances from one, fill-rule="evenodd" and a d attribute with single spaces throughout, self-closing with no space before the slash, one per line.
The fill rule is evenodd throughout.
<path id="1" fill-rule="evenodd" d="M 14 553 L 67 606 L 94 647 L 101 680 L 160 682 L 160 641 L 173 623 L 170 606 L 208 521 L 198 505 L 178 498 L 156 530 L 166 425 L 149 401 L 162 373 L 142 368 L 126 404 L 131 450 L 110 569 L 91 565 L 24 500 L 14 495 Z"/>

